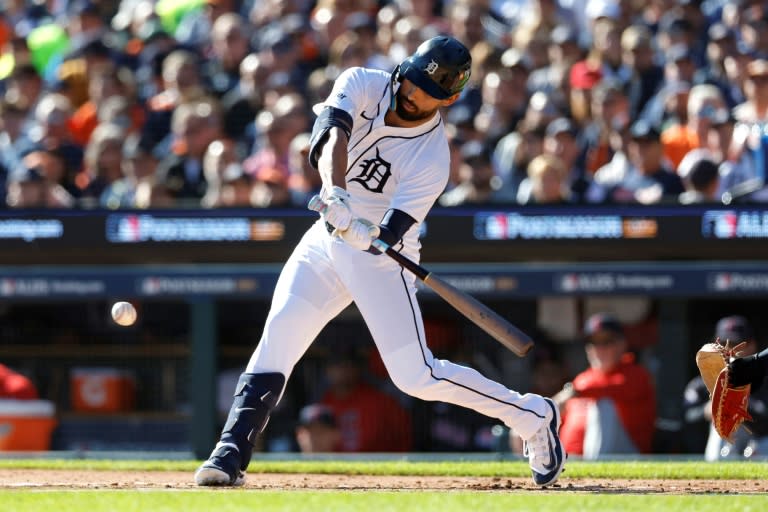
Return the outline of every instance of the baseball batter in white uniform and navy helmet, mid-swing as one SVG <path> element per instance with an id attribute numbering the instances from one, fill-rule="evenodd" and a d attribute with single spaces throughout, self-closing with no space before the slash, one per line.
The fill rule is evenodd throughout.
<path id="1" fill-rule="evenodd" d="M 415 277 L 371 247 L 381 238 L 418 261 L 419 226 L 448 181 L 439 109 L 458 99 L 470 66 L 464 45 L 438 36 L 391 74 L 344 71 L 328 99 L 315 107 L 309 159 L 322 176 L 327 207 L 280 274 L 221 440 L 195 473 L 198 485 L 243 483 L 255 438 L 294 366 L 352 301 L 398 388 L 500 419 L 525 441 L 536 484 L 560 476 L 565 452 L 555 403 L 436 359 L 425 342 Z"/>

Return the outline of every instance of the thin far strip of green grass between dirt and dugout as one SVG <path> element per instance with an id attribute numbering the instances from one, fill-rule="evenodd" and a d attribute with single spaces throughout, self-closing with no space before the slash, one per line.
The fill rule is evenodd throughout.
<path id="1" fill-rule="evenodd" d="M 124 471 L 189 471 L 198 461 L 0 459 L 0 468 L 79 469 Z M 668 478 L 668 479 L 768 479 L 768 462 L 703 461 L 571 461 L 565 478 Z M 509 462 L 410 462 L 410 461 L 259 461 L 249 473 L 323 473 L 352 475 L 506 476 L 528 477 L 523 461 Z"/>

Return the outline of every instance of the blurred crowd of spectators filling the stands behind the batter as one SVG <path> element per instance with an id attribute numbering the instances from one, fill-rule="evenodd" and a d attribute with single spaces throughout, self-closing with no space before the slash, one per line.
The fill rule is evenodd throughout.
<path id="1" fill-rule="evenodd" d="M 0 0 L 0 204 L 303 207 L 312 106 L 450 33 L 443 206 L 761 201 L 755 0 Z"/>

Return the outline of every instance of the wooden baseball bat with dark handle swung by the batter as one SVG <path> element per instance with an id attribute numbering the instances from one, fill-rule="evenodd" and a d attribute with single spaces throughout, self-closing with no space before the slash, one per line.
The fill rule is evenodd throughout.
<path id="1" fill-rule="evenodd" d="M 322 212 L 325 209 L 325 204 L 320 198 L 317 200 L 312 198 L 309 202 L 309 209 Z M 533 348 L 533 340 L 530 336 L 468 293 L 459 290 L 415 261 L 403 256 L 383 240 L 376 238 L 371 242 L 371 245 L 413 273 L 459 313 L 519 357 L 524 357 Z"/>

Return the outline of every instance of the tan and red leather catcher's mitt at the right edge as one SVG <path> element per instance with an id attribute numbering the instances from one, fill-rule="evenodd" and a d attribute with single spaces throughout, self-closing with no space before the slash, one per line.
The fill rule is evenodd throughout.
<path id="1" fill-rule="evenodd" d="M 712 424 L 726 441 L 731 440 L 731 436 L 745 420 L 752 419 L 747 412 L 750 385 L 731 386 L 728 367 L 744 345 L 739 343 L 732 347 L 729 342 L 723 345 L 717 339 L 714 343 L 706 343 L 696 353 L 696 365 L 712 398 Z"/>

